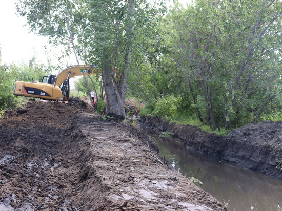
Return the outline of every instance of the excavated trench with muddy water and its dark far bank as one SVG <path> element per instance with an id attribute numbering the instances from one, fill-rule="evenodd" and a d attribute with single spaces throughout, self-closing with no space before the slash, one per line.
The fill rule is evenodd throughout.
<path id="1" fill-rule="evenodd" d="M 230 210 L 282 210 L 281 122 L 250 124 L 227 137 L 155 117 L 140 122 L 144 133 L 154 137 L 160 156 Z M 160 138 L 160 132 L 174 135 Z"/>

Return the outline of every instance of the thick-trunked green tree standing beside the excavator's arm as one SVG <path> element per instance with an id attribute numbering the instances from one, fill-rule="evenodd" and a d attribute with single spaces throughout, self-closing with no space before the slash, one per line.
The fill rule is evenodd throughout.
<path id="1" fill-rule="evenodd" d="M 93 12 L 88 13 L 86 26 L 87 47 L 91 63 L 102 70 L 108 115 L 125 116 L 124 99 L 128 78 L 133 66 L 132 58 L 143 49 L 144 38 L 151 35 L 154 20 L 160 9 L 146 1 L 87 1 Z M 138 59 L 140 61 L 140 59 Z M 118 77 L 118 79 L 116 78 Z"/>

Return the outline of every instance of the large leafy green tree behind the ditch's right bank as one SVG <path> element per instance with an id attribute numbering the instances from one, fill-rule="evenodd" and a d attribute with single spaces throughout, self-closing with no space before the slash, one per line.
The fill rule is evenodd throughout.
<path id="1" fill-rule="evenodd" d="M 200 121 L 214 130 L 254 121 L 279 93 L 280 1 L 175 4 L 167 40 Z"/>

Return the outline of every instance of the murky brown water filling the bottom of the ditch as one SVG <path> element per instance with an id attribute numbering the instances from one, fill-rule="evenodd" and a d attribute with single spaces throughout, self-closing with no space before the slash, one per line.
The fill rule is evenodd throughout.
<path id="1" fill-rule="evenodd" d="M 200 180 L 200 187 L 230 210 L 282 210 L 282 180 L 183 149 L 143 129 L 154 137 L 160 156 L 185 176 Z"/>

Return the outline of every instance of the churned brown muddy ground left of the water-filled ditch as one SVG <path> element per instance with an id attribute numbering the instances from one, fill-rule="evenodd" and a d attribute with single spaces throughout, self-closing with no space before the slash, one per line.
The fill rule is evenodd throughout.
<path id="1" fill-rule="evenodd" d="M 0 210 L 227 210 L 157 151 L 84 101 L 29 101 L 0 119 Z"/>

